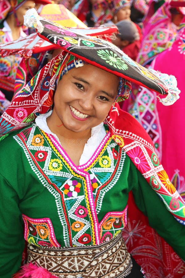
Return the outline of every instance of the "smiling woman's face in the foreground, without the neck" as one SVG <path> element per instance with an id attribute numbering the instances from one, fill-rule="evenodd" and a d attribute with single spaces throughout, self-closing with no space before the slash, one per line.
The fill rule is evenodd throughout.
<path id="1" fill-rule="evenodd" d="M 73 132 L 100 124 L 116 98 L 118 85 L 116 75 L 93 65 L 69 70 L 55 91 L 52 122 Z"/>

